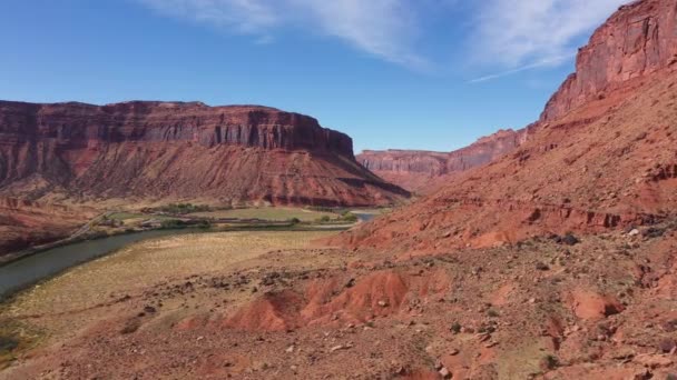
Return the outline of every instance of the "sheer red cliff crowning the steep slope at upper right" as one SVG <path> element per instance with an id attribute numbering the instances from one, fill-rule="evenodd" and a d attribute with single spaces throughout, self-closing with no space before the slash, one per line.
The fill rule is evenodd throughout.
<path id="1" fill-rule="evenodd" d="M 579 49 L 576 72 L 548 101 L 551 121 L 626 83 L 677 62 L 677 7 L 674 0 L 642 0 L 619 8 Z"/>

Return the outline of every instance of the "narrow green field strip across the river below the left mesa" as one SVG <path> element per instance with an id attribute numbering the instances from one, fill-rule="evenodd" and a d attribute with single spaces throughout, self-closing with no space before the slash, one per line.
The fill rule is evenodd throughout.
<path id="1" fill-rule="evenodd" d="M 264 207 L 249 209 L 218 210 L 192 213 L 198 218 L 237 218 L 237 219 L 263 219 L 284 221 L 296 218 L 301 221 L 315 221 L 322 217 L 336 219 L 338 216 L 332 212 L 311 211 L 300 208 Z"/>

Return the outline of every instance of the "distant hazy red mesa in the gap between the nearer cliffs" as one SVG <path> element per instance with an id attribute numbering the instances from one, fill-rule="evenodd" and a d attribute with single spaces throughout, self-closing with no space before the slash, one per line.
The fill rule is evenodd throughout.
<path id="1" fill-rule="evenodd" d="M 366 150 L 357 154 L 357 161 L 389 182 L 429 193 L 445 181 L 442 177 L 485 164 L 514 150 L 527 140 L 527 129 L 499 130 L 452 152 Z"/>

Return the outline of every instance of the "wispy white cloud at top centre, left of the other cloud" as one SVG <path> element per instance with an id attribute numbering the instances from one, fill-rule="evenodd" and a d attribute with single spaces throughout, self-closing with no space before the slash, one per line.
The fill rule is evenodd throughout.
<path id="1" fill-rule="evenodd" d="M 338 38 L 391 62 L 422 68 L 413 47 L 419 24 L 408 0 L 138 0 L 174 17 L 208 22 L 268 41 L 292 26 Z"/>

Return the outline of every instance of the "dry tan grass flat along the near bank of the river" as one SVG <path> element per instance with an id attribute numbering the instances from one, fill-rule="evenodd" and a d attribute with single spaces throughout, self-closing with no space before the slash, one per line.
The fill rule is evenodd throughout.
<path id="1" fill-rule="evenodd" d="M 17 354 L 53 337 L 72 337 L 73 326 L 101 318 L 101 304 L 138 298 L 153 286 L 287 263 L 326 266 L 311 241 L 335 232 L 243 231 L 187 233 L 141 241 L 39 283 L 0 303 L 0 370 Z M 285 250 L 285 251 L 281 251 Z M 208 300 L 196 301 L 198 304 Z M 178 308 L 167 302 L 168 309 Z M 38 318 L 28 316 L 39 316 Z M 56 339 L 56 338 L 55 338 Z"/>

